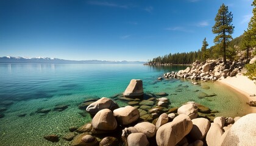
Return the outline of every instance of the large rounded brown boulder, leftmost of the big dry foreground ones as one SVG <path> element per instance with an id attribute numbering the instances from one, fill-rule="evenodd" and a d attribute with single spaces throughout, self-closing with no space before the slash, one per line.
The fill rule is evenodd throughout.
<path id="1" fill-rule="evenodd" d="M 96 130 L 112 131 L 116 129 L 118 123 L 110 109 L 102 109 L 93 117 L 91 125 Z"/>

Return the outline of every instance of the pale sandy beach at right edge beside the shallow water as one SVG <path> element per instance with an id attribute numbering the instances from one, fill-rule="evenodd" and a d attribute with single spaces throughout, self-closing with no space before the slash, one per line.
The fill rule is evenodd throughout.
<path id="1" fill-rule="evenodd" d="M 225 79 L 218 80 L 218 82 L 230 86 L 230 88 L 233 88 L 236 91 L 240 92 L 245 97 L 247 97 L 248 101 L 256 100 L 256 96 L 250 97 L 250 95 L 256 95 L 256 85 L 254 82 L 252 82 L 252 80 L 250 80 L 244 75 L 236 75 L 236 77 L 227 77 Z M 256 107 L 251 108 L 251 113 L 256 113 Z"/>

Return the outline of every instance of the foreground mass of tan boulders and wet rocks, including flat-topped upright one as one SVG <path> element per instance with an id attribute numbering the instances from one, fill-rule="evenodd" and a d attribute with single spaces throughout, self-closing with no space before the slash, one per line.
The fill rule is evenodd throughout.
<path id="1" fill-rule="evenodd" d="M 256 114 L 215 117 L 216 112 L 195 102 L 168 108 L 165 92 L 143 92 L 141 80 L 131 80 L 123 94 L 112 99 L 88 99 L 79 105 L 92 120 L 82 127 L 69 127 L 64 136 L 44 139 L 71 145 L 250 145 L 254 144 Z M 115 99 L 128 106 L 119 107 Z M 239 119 L 239 120 L 238 120 Z M 211 123 L 212 122 L 212 123 Z M 250 128 L 248 128 L 250 127 Z M 244 137 L 246 135 L 246 138 Z"/>

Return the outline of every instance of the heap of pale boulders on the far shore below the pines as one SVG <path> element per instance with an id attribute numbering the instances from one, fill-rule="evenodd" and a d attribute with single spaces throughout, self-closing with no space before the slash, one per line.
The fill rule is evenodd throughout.
<path id="1" fill-rule="evenodd" d="M 219 78 L 233 77 L 243 69 L 246 62 L 244 61 L 227 61 L 224 64 L 221 60 L 207 60 L 205 63 L 195 61 L 192 67 L 178 72 L 167 72 L 165 78 L 191 78 L 196 80 L 218 80 Z"/>

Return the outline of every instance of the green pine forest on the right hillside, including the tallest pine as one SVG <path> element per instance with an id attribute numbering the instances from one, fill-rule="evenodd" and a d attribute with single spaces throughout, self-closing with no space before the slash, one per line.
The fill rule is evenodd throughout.
<path id="1" fill-rule="evenodd" d="M 212 32 L 216 34 L 213 42 L 215 46 L 208 47 L 207 38 L 202 41 L 201 49 L 191 52 L 167 54 L 159 57 L 155 57 L 149 60 L 149 64 L 191 64 L 196 60 L 205 61 L 207 59 L 218 59 L 222 58 L 224 63 L 226 60 L 238 60 L 241 55 L 244 59 L 250 59 L 252 57 L 251 52 L 256 46 L 256 2 L 254 1 L 253 16 L 248 28 L 244 33 L 236 38 L 232 38 L 233 29 L 235 28 L 232 24 L 233 15 L 229 12 L 228 7 L 224 4 L 218 10 L 215 18 L 215 25 L 212 27 Z M 243 50 L 244 54 L 240 52 Z M 237 54 L 240 54 L 240 58 Z M 254 54 L 256 52 L 254 51 Z M 254 55 L 253 54 L 253 55 Z"/>

